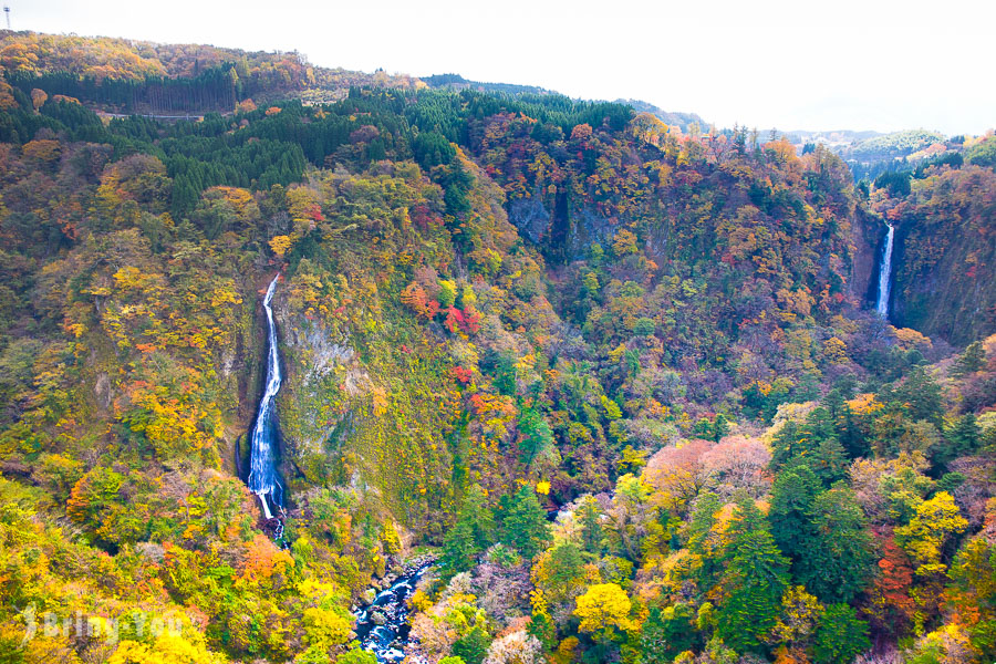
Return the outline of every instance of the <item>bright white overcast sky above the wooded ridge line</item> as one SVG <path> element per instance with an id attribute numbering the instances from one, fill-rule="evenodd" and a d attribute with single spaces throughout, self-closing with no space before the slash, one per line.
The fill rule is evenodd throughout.
<path id="1" fill-rule="evenodd" d="M 719 126 L 996 126 L 993 0 L 3 0 L 14 30 L 640 98 Z"/>

